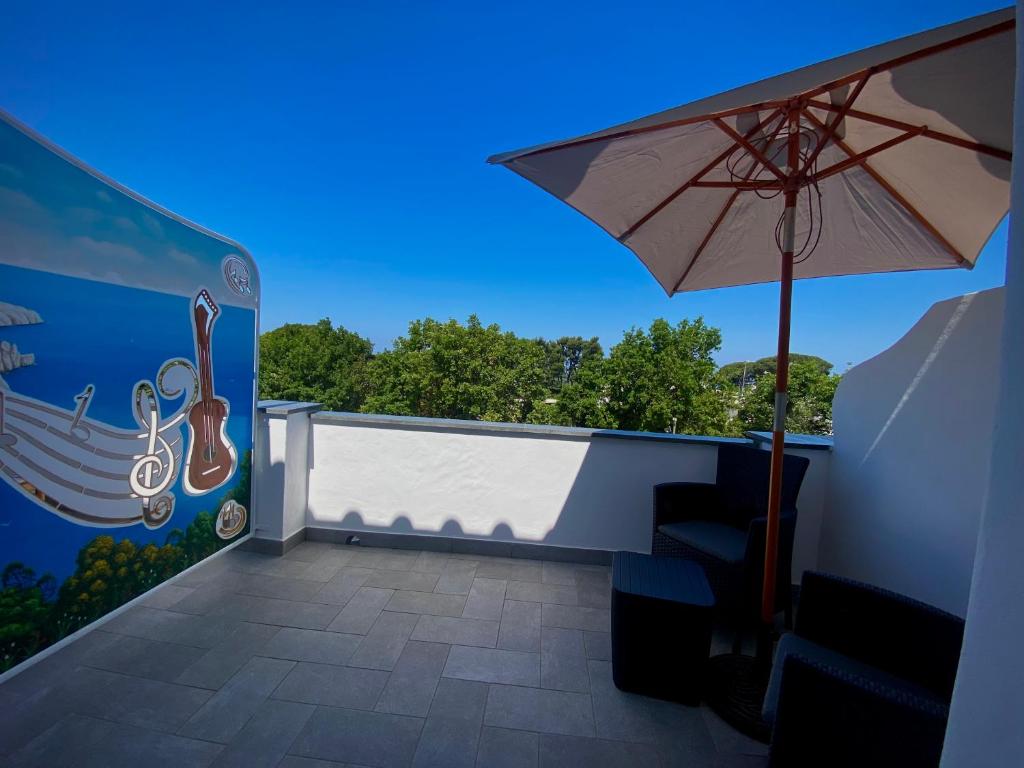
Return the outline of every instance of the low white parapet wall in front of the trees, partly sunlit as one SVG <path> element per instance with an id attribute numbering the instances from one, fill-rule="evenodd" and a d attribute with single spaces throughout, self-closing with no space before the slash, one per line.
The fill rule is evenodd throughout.
<path id="1" fill-rule="evenodd" d="M 308 431 L 293 423 L 300 418 Z M 653 485 L 713 481 L 718 445 L 750 442 L 329 412 L 279 413 L 260 422 L 268 459 L 257 473 L 257 536 L 278 540 L 298 529 L 301 499 L 307 530 L 321 534 L 649 551 Z M 293 430 L 298 437 L 289 437 Z M 812 461 L 799 500 L 799 578 L 817 562 L 829 451 L 795 452 Z M 308 467 L 307 485 L 296 479 L 286 492 L 287 478 L 297 474 L 293 464 Z"/>

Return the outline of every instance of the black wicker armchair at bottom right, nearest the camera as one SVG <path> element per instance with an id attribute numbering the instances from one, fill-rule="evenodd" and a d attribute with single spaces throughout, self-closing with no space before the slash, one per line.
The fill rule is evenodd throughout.
<path id="1" fill-rule="evenodd" d="M 939 765 L 964 621 L 808 571 L 765 696 L 770 765 Z"/>

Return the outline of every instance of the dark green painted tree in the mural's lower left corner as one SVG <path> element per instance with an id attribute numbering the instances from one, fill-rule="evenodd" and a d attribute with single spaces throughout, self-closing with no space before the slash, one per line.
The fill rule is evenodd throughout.
<path id="1" fill-rule="evenodd" d="M 53 642 L 50 611 L 56 582 L 37 578 L 23 563 L 8 563 L 0 577 L 0 672 Z"/>

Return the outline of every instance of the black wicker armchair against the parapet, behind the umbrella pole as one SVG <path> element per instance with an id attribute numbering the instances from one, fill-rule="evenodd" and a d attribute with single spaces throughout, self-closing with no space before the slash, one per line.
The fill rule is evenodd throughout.
<path id="1" fill-rule="evenodd" d="M 779 517 L 775 609 L 792 625 L 793 537 L 797 496 L 810 462 L 785 456 Z M 651 554 L 685 557 L 703 566 L 715 592 L 718 623 L 743 629 L 757 621 L 764 580 L 771 453 L 741 444 L 718 447 L 714 483 L 654 486 Z M 737 636 L 738 639 L 738 636 Z"/>

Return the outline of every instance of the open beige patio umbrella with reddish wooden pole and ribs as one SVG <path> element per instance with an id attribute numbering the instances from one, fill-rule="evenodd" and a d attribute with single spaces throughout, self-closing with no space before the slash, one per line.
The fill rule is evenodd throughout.
<path id="1" fill-rule="evenodd" d="M 761 613 L 774 614 L 793 281 L 971 268 L 1009 210 L 1013 8 L 517 152 L 670 295 L 780 282 Z"/>

